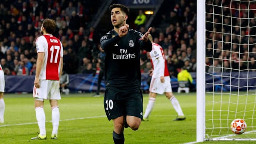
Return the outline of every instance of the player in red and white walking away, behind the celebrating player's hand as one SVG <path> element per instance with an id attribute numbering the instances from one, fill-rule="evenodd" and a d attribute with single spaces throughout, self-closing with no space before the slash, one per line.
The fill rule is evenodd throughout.
<path id="1" fill-rule="evenodd" d="M 153 38 L 150 34 L 148 37 L 152 43 L 150 57 L 153 67 L 153 75 L 149 87 L 149 102 L 143 115 L 143 121 L 149 120 L 148 117 L 155 105 L 156 95 L 162 95 L 163 93 L 165 93 L 165 96 L 170 100 L 172 106 L 178 114 L 174 121 L 185 120 L 186 118 L 181 110 L 180 103 L 172 94 L 171 79 L 167 68 L 167 62 L 165 60 L 164 50 L 159 44 L 153 42 Z"/>

